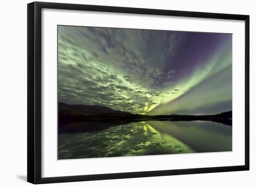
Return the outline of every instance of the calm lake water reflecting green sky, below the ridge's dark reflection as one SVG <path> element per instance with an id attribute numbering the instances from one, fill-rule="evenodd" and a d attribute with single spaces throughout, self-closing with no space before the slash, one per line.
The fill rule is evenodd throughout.
<path id="1" fill-rule="evenodd" d="M 223 151 L 232 151 L 232 127 L 216 122 L 131 122 L 59 134 L 59 159 Z"/>

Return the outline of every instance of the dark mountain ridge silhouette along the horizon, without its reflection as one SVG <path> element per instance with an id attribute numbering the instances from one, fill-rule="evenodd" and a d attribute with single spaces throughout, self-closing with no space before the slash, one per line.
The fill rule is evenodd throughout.
<path id="1" fill-rule="evenodd" d="M 99 105 L 69 105 L 59 103 L 59 120 L 106 121 L 106 120 L 172 120 L 172 121 L 228 121 L 232 122 L 232 110 L 216 115 L 140 115 L 113 110 Z"/>

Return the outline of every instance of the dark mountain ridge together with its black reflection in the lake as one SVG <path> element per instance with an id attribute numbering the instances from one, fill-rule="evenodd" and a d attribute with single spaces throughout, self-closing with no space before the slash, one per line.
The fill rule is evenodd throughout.
<path id="1" fill-rule="evenodd" d="M 232 126 L 232 110 L 216 115 L 140 115 L 99 105 L 59 103 L 59 133 L 95 132 L 141 121 L 212 121 Z"/>

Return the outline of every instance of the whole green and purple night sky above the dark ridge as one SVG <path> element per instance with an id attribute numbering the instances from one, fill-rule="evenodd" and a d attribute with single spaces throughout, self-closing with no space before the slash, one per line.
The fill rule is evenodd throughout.
<path id="1" fill-rule="evenodd" d="M 58 26 L 58 96 L 133 114 L 232 109 L 232 34 Z"/>

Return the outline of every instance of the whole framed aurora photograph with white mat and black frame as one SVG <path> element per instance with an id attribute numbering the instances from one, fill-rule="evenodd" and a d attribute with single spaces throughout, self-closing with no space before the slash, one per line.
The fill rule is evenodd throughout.
<path id="1" fill-rule="evenodd" d="M 27 181 L 249 170 L 249 15 L 27 5 Z"/>

